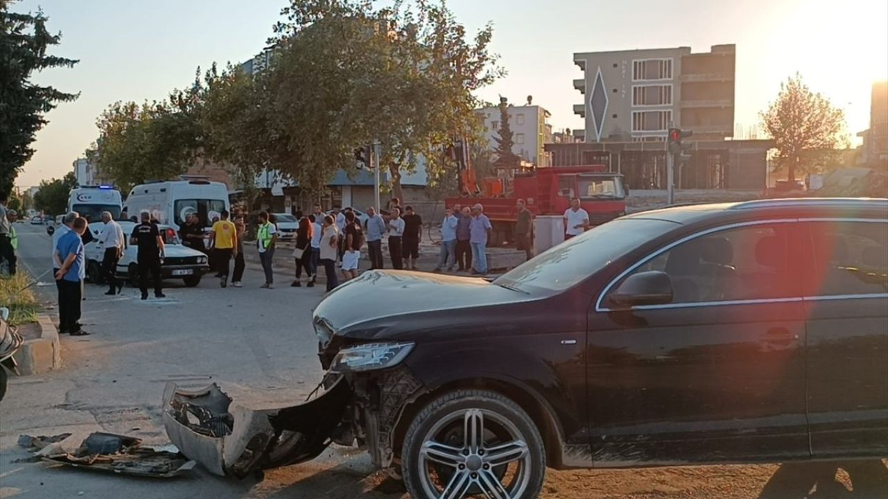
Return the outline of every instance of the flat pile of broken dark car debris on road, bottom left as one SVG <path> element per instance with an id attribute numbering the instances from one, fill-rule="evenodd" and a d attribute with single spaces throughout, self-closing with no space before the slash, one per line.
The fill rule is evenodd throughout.
<path id="1" fill-rule="evenodd" d="M 35 457 L 47 463 L 137 477 L 168 479 L 195 465 L 178 452 L 143 446 L 142 440 L 114 433 L 95 432 L 84 440 L 70 433 L 52 437 L 21 435 L 19 445 L 35 449 Z"/>

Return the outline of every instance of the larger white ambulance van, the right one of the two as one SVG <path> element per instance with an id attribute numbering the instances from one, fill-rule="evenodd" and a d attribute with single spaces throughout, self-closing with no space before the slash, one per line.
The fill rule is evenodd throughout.
<path id="1" fill-rule="evenodd" d="M 123 204 L 131 220 L 139 221 L 147 211 L 158 223 L 175 229 L 185 224 L 188 213 L 197 213 L 204 227 L 222 210 L 231 210 L 228 187 L 221 182 L 203 179 L 170 180 L 135 186 Z"/>

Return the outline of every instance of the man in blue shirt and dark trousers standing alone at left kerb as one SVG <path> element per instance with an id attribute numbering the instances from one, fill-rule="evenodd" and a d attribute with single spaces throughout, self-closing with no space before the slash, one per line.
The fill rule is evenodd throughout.
<path id="1" fill-rule="evenodd" d="M 76 218 L 71 230 L 59 238 L 56 254 L 61 266 L 55 278 L 59 283 L 59 333 L 72 337 L 88 335 L 80 329 L 80 302 L 83 299 L 81 285 L 85 277 L 83 267 L 83 240 L 86 232 L 86 219 Z"/>

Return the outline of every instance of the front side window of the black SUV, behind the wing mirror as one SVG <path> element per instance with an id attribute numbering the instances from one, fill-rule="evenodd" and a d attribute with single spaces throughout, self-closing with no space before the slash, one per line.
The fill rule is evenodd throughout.
<path id="1" fill-rule="evenodd" d="M 789 224 L 762 224 L 705 234 L 663 252 L 632 273 L 669 274 L 673 304 L 797 297 L 789 230 Z"/>

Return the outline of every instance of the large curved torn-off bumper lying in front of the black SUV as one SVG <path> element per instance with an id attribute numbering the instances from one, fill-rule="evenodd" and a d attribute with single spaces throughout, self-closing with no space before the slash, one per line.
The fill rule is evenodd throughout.
<path id="1" fill-rule="evenodd" d="M 188 458 L 216 475 L 242 478 L 320 455 L 351 397 L 340 379 L 305 403 L 253 410 L 233 404 L 217 384 L 186 391 L 170 383 L 163 393 L 163 425 Z"/>

